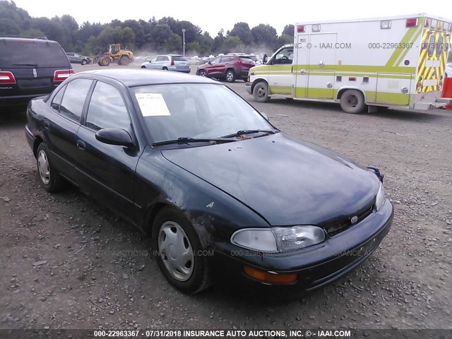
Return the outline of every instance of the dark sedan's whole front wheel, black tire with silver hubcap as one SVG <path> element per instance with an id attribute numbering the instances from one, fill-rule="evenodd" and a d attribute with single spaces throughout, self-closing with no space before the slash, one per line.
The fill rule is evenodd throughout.
<path id="1" fill-rule="evenodd" d="M 172 237 L 167 237 L 168 233 L 171 233 Z M 179 241 L 178 244 L 177 239 L 183 239 L 183 241 Z M 165 244 L 166 240 L 167 244 Z M 207 257 L 197 255 L 201 254 L 203 249 L 198 234 L 178 210 L 169 207 L 160 210 L 153 224 L 152 246 L 157 256 L 158 266 L 171 285 L 190 294 L 201 292 L 209 287 Z M 171 249 L 172 254 L 167 253 L 169 250 L 165 246 Z M 186 263 L 184 260 L 177 261 L 180 251 L 186 252 L 182 254 L 189 258 L 184 259 L 187 260 Z M 192 253 L 191 256 L 190 253 Z M 175 258 L 172 259 L 171 256 Z M 182 269 L 180 269 L 181 263 L 184 263 Z M 174 268 L 174 266 L 179 267 Z"/>

